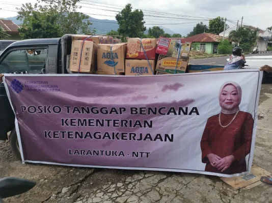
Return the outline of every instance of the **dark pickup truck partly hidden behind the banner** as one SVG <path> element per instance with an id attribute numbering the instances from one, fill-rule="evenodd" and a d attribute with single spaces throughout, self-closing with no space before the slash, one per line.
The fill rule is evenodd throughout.
<path id="1" fill-rule="evenodd" d="M 0 54 L 0 73 L 71 73 L 66 69 L 66 64 L 69 64 L 67 55 L 71 53 L 71 45 L 71 35 L 64 35 L 62 38 L 14 42 Z M 4 84 L 0 83 L 0 141 L 9 140 L 13 153 L 21 160 L 14 121 L 15 115 L 7 92 Z"/>

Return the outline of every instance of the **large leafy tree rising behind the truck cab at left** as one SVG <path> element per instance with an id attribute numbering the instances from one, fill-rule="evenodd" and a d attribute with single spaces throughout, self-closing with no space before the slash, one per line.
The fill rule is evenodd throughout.
<path id="1" fill-rule="evenodd" d="M 19 28 L 22 39 L 55 38 L 66 33 L 90 33 L 91 23 L 86 20 L 88 15 L 76 12 L 79 0 L 56 0 L 47 3 L 39 0 L 38 3 L 23 4 L 18 9 L 18 20 L 22 20 Z M 41 4 L 42 3 L 42 4 Z"/>

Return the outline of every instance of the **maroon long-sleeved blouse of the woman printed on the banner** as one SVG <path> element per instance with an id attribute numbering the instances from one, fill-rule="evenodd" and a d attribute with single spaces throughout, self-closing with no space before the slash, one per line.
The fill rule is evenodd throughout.
<path id="1" fill-rule="evenodd" d="M 221 113 L 221 124 L 228 125 L 235 114 Z M 221 158 L 234 156 L 234 161 L 223 174 L 239 174 L 247 171 L 246 155 L 250 153 L 254 120 L 250 113 L 239 111 L 228 127 L 221 127 L 219 114 L 208 118 L 200 142 L 202 162 L 206 163 L 205 171 L 221 173 L 213 167 L 207 155 L 216 154 Z"/>

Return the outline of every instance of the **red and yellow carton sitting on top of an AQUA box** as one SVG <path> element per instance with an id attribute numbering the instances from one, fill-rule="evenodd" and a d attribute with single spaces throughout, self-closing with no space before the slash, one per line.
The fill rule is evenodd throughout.
<path id="1" fill-rule="evenodd" d="M 142 42 L 142 45 L 141 45 Z M 144 47 L 144 49 L 143 49 Z M 129 38 L 127 40 L 127 59 L 146 59 L 144 50 L 146 52 L 147 58 L 154 60 L 156 57 L 156 39 L 141 39 L 140 38 Z"/>

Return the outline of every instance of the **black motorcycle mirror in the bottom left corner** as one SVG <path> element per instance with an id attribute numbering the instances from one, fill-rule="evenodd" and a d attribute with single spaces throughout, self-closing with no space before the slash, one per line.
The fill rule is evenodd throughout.
<path id="1" fill-rule="evenodd" d="M 35 185 L 36 182 L 27 179 L 14 177 L 0 179 L 0 203 L 4 203 L 4 198 L 25 193 Z"/>

